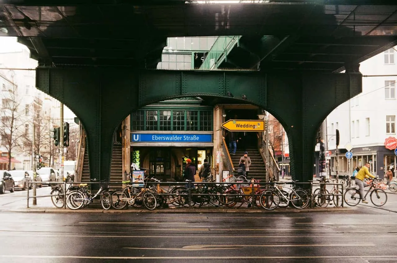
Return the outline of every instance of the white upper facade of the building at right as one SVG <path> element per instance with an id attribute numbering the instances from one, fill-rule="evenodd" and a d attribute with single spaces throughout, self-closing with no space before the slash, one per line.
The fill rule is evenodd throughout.
<path id="1" fill-rule="evenodd" d="M 397 51 L 394 51 L 394 59 L 397 60 Z M 339 122 L 341 135 L 339 148 L 344 148 L 347 142 L 351 142 L 353 147 L 384 145 L 385 138 L 395 136 L 395 133 L 386 133 L 386 116 L 397 116 L 396 92 L 393 99 L 385 99 L 385 81 L 397 81 L 397 65 L 385 64 L 382 52 L 362 62 L 360 72 L 363 75 L 396 76 L 363 77 L 362 93 L 341 104 L 328 115 L 328 134 L 335 134 L 335 124 Z M 369 135 L 366 133 L 366 118 L 370 119 Z M 358 131 L 357 120 L 359 122 Z M 353 121 L 354 128 L 352 127 Z M 332 124 L 334 130 L 331 130 Z M 335 136 L 330 138 L 329 135 L 328 138 L 328 148 L 335 149 Z"/>

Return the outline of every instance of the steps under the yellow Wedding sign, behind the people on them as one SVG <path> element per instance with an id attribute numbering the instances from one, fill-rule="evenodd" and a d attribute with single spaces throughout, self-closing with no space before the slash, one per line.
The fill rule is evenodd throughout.
<path id="1" fill-rule="evenodd" d="M 248 178 L 255 178 L 256 180 L 266 180 L 266 167 L 265 163 L 260 155 L 258 149 L 251 148 L 246 150 L 248 157 L 251 159 L 251 165 L 249 166 Z M 239 167 L 240 158 L 244 155 L 245 151 L 237 150 L 236 155 L 230 155 L 231 161 L 233 162 L 234 169 L 237 171 Z"/>

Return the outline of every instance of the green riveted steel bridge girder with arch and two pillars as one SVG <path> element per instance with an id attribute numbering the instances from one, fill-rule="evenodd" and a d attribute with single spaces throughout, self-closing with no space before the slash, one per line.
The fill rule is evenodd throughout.
<path id="1" fill-rule="evenodd" d="M 131 112 L 166 99 L 212 96 L 264 108 L 289 139 L 293 178 L 312 178 L 315 136 L 326 116 L 362 91 L 361 73 L 37 68 L 36 86 L 63 102 L 87 133 L 91 178 L 110 174 L 112 136 Z M 234 97 L 228 97 L 227 91 Z M 247 99 L 242 99 L 244 94 Z"/>

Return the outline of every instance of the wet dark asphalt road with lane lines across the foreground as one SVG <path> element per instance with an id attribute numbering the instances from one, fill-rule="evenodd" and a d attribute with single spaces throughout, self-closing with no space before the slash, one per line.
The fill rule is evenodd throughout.
<path id="1" fill-rule="evenodd" d="M 397 213 L 1 214 L 1 262 L 397 262 Z"/>

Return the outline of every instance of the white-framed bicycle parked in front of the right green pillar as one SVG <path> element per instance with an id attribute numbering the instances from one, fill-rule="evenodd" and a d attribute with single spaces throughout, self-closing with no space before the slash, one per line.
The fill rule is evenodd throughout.
<path id="1" fill-rule="evenodd" d="M 287 188 L 289 191 L 285 194 L 280 188 Z M 303 209 L 309 205 L 309 196 L 306 191 L 276 183 L 273 184 L 271 190 L 262 192 L 259 197 L 259 203 L 264 209 L 272 210 L 278 207 L 280 199 L 283 199 L 287 205 L 291 203 L 297 209 Z"/>

